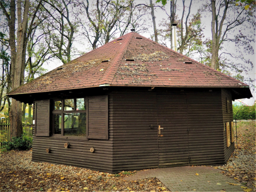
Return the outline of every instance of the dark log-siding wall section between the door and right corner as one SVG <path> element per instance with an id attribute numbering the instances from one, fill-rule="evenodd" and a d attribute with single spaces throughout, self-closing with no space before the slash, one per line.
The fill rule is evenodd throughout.
<path id="1" fill-rule="evenodd" d="M 190 165 L 223 164 L 221 92 L 190 92 L 187 97 Z"/>

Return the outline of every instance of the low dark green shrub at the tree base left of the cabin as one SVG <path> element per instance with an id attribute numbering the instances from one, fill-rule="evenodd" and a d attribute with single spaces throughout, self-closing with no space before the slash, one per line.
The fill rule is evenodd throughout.
<path id="1" fill-rule="evenodd" d="M 32 138 L 27 135 L 12 137 L 11 141 L 4 141 L 2 148 L 10 150 L 28 150 L 32 147 Z"/>

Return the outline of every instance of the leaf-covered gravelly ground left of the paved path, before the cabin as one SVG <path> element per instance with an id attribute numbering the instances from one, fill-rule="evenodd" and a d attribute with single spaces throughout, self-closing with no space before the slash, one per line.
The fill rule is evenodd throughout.
<path id="1" fill-rule="evenodd" d="M 156 178 L 124 181 L 136 171 L 102 173 L 75 166 L 36 163 L 32 151 L 9 151 L 0 157 L 0 191 L 169 191 Z"/>

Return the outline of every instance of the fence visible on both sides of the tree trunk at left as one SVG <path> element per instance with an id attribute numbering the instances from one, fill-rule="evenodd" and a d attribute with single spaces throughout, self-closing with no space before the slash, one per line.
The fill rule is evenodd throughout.
<path id="1" fill-rule="evenodd" d="M 32 137 L 32 117 L 22 118 L 23 134 Z M 11 129 L 9 118 L 0 121 L 0 143 L 3 141 L 11 141 Z"/>

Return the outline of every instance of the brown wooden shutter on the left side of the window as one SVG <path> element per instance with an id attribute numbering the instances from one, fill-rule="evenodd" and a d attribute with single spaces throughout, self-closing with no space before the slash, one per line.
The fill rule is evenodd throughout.
<path id="1" fill-rule="evenodd" d="M 35 135 L 50 136 L 50 100 L 36 101 Z"/>

